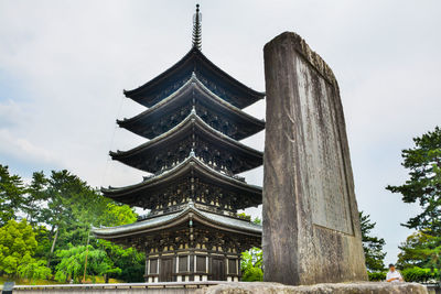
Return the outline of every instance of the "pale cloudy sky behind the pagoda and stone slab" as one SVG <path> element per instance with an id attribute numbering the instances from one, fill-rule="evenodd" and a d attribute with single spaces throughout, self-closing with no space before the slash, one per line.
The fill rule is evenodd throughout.
<path id="1" fill-rule="evenodd" d="M 0 0 L 0 164 L 31 178 L 66 168 L 92 186 L 138 183 L 110 161 L 146 139 L 116 127 L 144 108 L 123 97 L 191 48 L 195 1 Z M 385 187 L 407 179 L 412 138 L 441 124 L 440 1 L 201 0 L 202 51 L 265 91 L 263 45 L 300 34 L 340 85 L 358 209 L 386 240 L 386 262 L 419 210 Z M 245 109 L 265 118 L 265 101 Z M 244 143 L 263 150 L 265 133 Z M 244 173 L 262 184 L 262 167 Z M 260 208 L 247 210 L 259 216 Z"/>

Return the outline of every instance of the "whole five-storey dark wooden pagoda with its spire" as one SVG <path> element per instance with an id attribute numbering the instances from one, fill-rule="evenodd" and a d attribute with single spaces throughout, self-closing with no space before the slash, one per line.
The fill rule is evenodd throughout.
<path id="1" fill-rule="evenodd" d="M 265 94 L 202 54 L 198 6 L 193 23 L 190 52 L 125 91 L 147 110 L 117 121 L 149 140 L 110 156 L 148 175 L 103 194 L 150 213 L 135 224 L 93 230 L 146 252 L 146 282 L 239 281 L 240 253 L 261 244 L 261 226 L 239 218 L 237 210 L 260 205 L 262 189 L 237 174 L 262 164 L 262 152 L 239 140 L 265 129 L 265 121 L 241 110 Z"/>

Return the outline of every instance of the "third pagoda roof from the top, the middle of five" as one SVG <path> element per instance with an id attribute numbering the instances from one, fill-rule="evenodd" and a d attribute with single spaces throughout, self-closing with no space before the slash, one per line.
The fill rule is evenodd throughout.
<path id="1" fill-rule="evenodd" d="M 223 146 L 223 149 L 236 154 L 237 159 L 240 159 L 244 162 L 244 164 L 237 165 L 237 167 L 232 171 L 235 174 L 246 172 L 262 164 L 262 152 L 249 148 L 213 129 L 196 115 L 195 110 L 192 110 L 182 122 L 170 131 L 131 150 L 117 152 L 110 151 L 110 156 L 112 160 L 120 161 L 132 167 L 150 173 L 157 173 L 160 170 L 155 164 L 153 164 L 155 156 L 161 152 L 166 152 L 169 146 L 175 146 L 180 141 L 191 138 L 195 132 L 201 133 L 201 138 L 204 141 L 209 142 L 216 148 Z"/>

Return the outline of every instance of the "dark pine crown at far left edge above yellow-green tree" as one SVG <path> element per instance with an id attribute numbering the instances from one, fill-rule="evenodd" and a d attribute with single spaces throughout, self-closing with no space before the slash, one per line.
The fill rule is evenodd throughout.
<path id="1" fill-rule="evenodd" d="M 25 186 L 18 175 L 11 175 L 6 165 L 0 164 L 0 226 L 17 219 L 23 205 Z"/>

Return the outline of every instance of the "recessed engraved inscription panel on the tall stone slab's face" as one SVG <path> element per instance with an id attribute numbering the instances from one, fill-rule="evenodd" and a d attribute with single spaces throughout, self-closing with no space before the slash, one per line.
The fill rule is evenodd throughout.
<path id="1" fill-rule="evenodd" d="M 303 177 L 315 225 L 353 235 L 349 195 L 342 155 L 338 127 L 329 85 L 301 58 L 297 58 L 301 132 L 305 157 Z"/>

